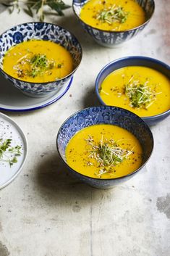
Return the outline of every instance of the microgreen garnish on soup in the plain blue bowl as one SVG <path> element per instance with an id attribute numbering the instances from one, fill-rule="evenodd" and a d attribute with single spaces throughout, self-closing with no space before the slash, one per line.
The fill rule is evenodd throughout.
<path id="1" fill-rule="evenodd" d="M 161 94 L 161 92 L 156 93 L 156 91 L 153 91 L 148 86 L 148 81 L 142 84 L 139 80 L 133 80 L 133 76 L 130 78 L 129 83 L 125 85 L 124 91 L 129 97 L 131 107 L 145 109 L 148 109 L 156 101 L 157 94 Z"/>

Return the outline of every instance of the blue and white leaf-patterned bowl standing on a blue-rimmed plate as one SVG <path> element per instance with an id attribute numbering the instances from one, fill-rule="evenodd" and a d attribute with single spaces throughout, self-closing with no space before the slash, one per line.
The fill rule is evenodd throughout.
<path id="1" fill-rule="evenodd" d="M 41 39 L 46 41 L 54 41 L 56 44 L 64 46 L 72 56 L 74 70 L 69 75 L 49 83 L 29 83 L 24 82 L 17 78 L 12 78 L 3 71 L 3 57 L 8 49 L 16 44 L 20 44 L 23 41 L 29 41 L 31 39 Z M 28 22 L 5 31 L 0 36 L 0 72 L 5 78 L 10 80 L 13 85 L 19 88 L 23 93 L 28 96 L 42 97 L 48 96 L 51 92 L 59 91 L 61 86 L 72 78 L 72 75 L 77 70 L 82 59 L 82 47 L 79 41 L 72 33 L 64 28 L 59 27 L 46 22 Z"/>

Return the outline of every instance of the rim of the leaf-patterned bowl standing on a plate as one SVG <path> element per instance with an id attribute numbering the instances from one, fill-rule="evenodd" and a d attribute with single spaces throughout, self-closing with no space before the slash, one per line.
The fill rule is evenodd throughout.
<path id="1" fill-rule="evenodd" d="M 77 65 L 77 67 L 75 67 L 75 69 L 74 70 L 72 70 L 72 72 L 71 73 L 69 73 L 68 75 L 66 75 L 66 76 L 64 76 L 64 78 L 60 78 L 60 79 L 58 79 L 58 80 L 54 80 L 54 81 L 51 81 L 51 82 L 29 82 L 29 81 L 25 81 L 25 80 L 21 80 L 21 79 L 18 79 L 18 78 L 14 78 L 12 75 L 9 75 L 8 73 L 6 73 L 1 67 L 0 67 L 0 72 L 1 73 L 4 73 L 5 75 L 7 75 L 7 76 L 9 76 L 9 78 L 12 78 L 12 79 L 15 79 L 15 80 L 18 80 L 18 81 L 20 81 L 20 82 L 24 82 L 24 83 L 30 83 L 30 84 L 38 84 L 38 85 L 41 85 L 41 84 L 43 84 L 43 85 L 48 85 L 49 83 L 56 83 L 56 82 L 60 82 L 61 80 L 64 80 L 64 79 L 66 79 L 66 78 L 69 78 L 70 77 L 70 75 L 73 75 L 74 73 L 75 73 L 75 71 L 77 70 L 77 68 L 80 66 L 80 63 L 81 63 L 81 61 L 82 61 L 82 46 L 81 46 L 81 44 L 80 44 L 80 41 L 77 39 L 77 37 L 75 36 L 75 34 L 73 34 L 72 32 L 70 32 L 69 30 L 67 30 L 66 28 L 63 28 L 63 27 L 61 27 L 61 26 L 59 26 L 59 25 L 56 25 L 56 24 L 54 24 L 54 23 L 51 23 L 51 22 L 41 22 L 41 21 L 33 21 L 33 22 L 24 22 L 24 23 L 20 23 L 20 24 L 17 24 L 17 25 L 14 25 L 12 28 L 17 28 L 17 26 L 21 26 L 21 25 L 27 25 L 27 24 L 37 24 L 37 23 L 43 23 L 43 24 L 48 24 L 48 25 L 54 25 L 55 27 L 58 27 L 58 28 L 61 28 L 61 29 L 63 29 L 63 30 L 65 30 L 65 31 L 67 31 L 67 32 L 69 32 L 70 33 L 70 36 L 72 36 L 73 38 L 75 38 L 76 39 L 76 41 L 77 41 L 77 43 L 79 44 L 79 46 L 80 46 L 80 62 L 79 62 L 79 64 Z M 11 30 L 12 28 L 9 28 L 9 29 L 7 29 L 7 30 L 5 30 L 3 33 L 1 33 L 1 35 L 0 35 L 0 38 L 1 38 L 1 36 L 4 34 L 4 33 L 7 33 L 7 31 L 8 30 Z M 30 40 L 27 40 L 27 41 L 30 41 Z M 47 41 L 49 41 L 49 40 L 47 40 Z M 22 42 L 21 42 L 22 43 Z M 19 43 L 19 44 L 21 44 L 21 43 Z M 16 44 L 17 45 L 17 44 Z M 10 48 L 9 48 L 10 49 Z M 6 51 L 7 52 L 7 51 Z"/>

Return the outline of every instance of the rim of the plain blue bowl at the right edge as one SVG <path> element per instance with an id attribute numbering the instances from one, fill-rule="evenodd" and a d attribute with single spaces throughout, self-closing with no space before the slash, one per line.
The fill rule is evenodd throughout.
<path id="1" fill-rule="evenodd" d="M 119 58 L 119 59 L 115 59 L 114 61 L 112 62 L 109 62 L 108 64 L 106 64 L 101 70 L 100 72 L 98 73 L 96 79 L 95 79 L 95 94 L 97 95 L 98 99 L 99 99 L 99 102 L 101 102 L 101 104 L 103 104 L 104 106 L 108 106 L 105 102 L 103 102 L 103 100 L 101 99 L 101 96 L 99 94 L 99 88 L 98 88 L 98 80 L 100 79 L 102 73 L 108 68 L 110 67 L 111 65 L 114 65 L 114 63 L 116 62 L 122 62 L 122 61 L 128 61 L 128 60 L 131 60 L 131 59 L 139 59 L 139 60 L 146 60 L 146 61 L 150 61 L 150 62 L 156 62 L 158 65 L 161 65 L 163 67 L 165 67 L 167 70 L 170 71 L 170 66 L 168 64 L 166 64 L 165 62 L 162 62 L 161 60 L 158 60 L 158 59 L 154 59 L 154 58 L 151 58 L 151 57 L 145 57 L 145 56 L 127 56 L 127 57 L 122 57 L 122 58 Z M 140 65 L 137 65 L 137 66 L 140 66 Z M 124 67 L 132 67 L 132 65 L 129 65 L 129 66 L 124 66 Z M 145 67 L 145 66 L 141 66 L 141 67 Z M 121 67 L 119 67 L 121 68 Z M 116 69 L 116 70 L 119 70 Z M 156 70 L 154 69 L 153 67 L 150 67 L 152 68 L 153 70 Z M 157 70 L 158 71 L 158 70 Z M 161 73 L 161 71 L 159 71 Z M 115 106 L 116 107 L 116 106 Z M 131 111 L 130 111 L 131 112 Z M 170 109 L 169 110 L 166 110 L 160 114 L 157 114 L 157 115 L 150 115 L 150 116 L 147 116 L 147 117 L 140 117 L 142 119 L 144 119 L 145 121 L 147 120 L 150 120 L 150 119 L 157 119 L 159 117 L 162 117 L 163 115 L 167 115 L 170 113 Z"/>

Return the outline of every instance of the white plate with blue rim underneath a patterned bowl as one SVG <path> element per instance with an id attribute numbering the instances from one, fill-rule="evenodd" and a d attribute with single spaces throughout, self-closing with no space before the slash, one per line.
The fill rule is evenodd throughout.
<path id="1" fill-rule="evenodd" d="M 67 81 L 59 91 L 50 94 L 50 96 L 32 98 L 23 94 L 22 91 L 12 86 L 12 83 L 0 75 L 0 110 L 30 111 L 46 107 L 66 94 L 72 84 L 72 79 Z"/>

